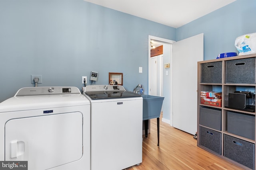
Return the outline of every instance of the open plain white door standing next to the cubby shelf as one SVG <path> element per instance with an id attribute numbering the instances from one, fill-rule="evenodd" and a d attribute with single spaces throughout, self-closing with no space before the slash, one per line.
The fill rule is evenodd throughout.
<path id="1" fill-rule="evenodd" d="M 173 43 L 172 124 L 190 134 L 197 131 L 197 62 L 203 60 L 203 33 Z"/>

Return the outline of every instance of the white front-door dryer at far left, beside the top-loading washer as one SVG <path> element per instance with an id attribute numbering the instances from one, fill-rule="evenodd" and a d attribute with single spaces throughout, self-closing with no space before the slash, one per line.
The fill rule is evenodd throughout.
<path id="1" fill-rule="evenodd" d="M 90 102 L 76 87 L 21 88 L 0 103 L 0 160 L 90 169 Z"/>

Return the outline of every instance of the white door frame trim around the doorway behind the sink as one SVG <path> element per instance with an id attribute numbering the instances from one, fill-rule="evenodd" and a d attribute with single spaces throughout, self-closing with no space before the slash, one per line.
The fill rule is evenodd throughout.
<path id="1" fill-rule="evenodd" d="M 155 36 L 152 36 L 152 35 L 148 35 L 148 70 L 150 70 L 150 40 L 155 40 L 155 41 L 159 41 L 159 42 L 162 42 L 164 44 L 173 44 L 174 42 L 176 41 L 173 41 L 173 40 L 170 40 L 170 39 L 164 39 L 164 38 L 160 38 L 160 37 L 155 37 Z M 171 47 L 172 49 L 172 47 Z M 170 50 L 171 50 L 170 49 Z M 171 51 L 171 56 L 170 56 L 170 60 L 171 60 L 171 63 L 170 63 L 170 67 L 171 67 L 171 72 L 170 72 L 170 75 L 172 75 L 172 51 Z M 149 71 L 148 71 L 148 92 L 150 92 L 150 75 L 149 75 Z M 163 81 L 163 79 L 161 78 L 161 81 Z M 172 82 L 172 76 L 170 78 L 170 82 Z M 170 125 L 172 126 L 172 83 L 171 84 L 171 87 L 170 87 Z"/>

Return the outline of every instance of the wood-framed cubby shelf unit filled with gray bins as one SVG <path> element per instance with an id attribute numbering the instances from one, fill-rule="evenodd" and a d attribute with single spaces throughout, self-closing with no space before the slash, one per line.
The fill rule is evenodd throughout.
<path id="1" fill-rule="evenodd" d="M 256 54 L 198 62 L 197 146 L 246 170 L 256 169 L 255 63 Z"/>

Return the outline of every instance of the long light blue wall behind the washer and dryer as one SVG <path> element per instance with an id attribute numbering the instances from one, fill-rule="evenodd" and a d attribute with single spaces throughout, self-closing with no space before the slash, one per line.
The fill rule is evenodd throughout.
<path id="1" fill-rule="evenodd" d="M 0 102 L 34 86 L 32 74 L 38 86 L 81 88 L 92 70 L 96 84 L 122 72 L 126 90 L 147 94 L 148 35 L 175 40 L 176 29 L 83 0 L 1 0 Z"/>

